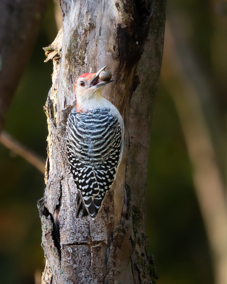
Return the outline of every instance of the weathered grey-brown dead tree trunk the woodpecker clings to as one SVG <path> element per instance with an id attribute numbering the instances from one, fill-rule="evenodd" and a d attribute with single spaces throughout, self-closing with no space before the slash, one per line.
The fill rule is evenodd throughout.
<path id="1" fill-rule="evenodd" d="M 46 257 L 42 283 L 153 283 L 146 254 L 146 165 L 165 1 L 60 3 L 63 33 L 46 49 L 54 71 L 45 108 L 46 189 L 38 202 Z M 93 221 L 75 218 L 77 189 L 64 137 L 76 103 L 75 79 L 106 64 L 115 82 L 103 90 L 104 97 L 124 119 L 125 149 L 116 180 Z"/>

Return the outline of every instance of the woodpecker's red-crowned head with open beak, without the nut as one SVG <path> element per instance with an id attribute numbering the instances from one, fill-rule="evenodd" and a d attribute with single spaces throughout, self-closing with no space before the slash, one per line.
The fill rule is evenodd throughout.
<path id="1" fill-rule="evenodd" d="M 100 100 L 102 94 L 101 87 L 114 81 L 99 82 L 99 74 L 106 67 L 101 68 L 96 73 L 84 73 L 77 78 L 74 85 L 77 98 L 77 111 L 87 111 L 92 103 Z"/>

